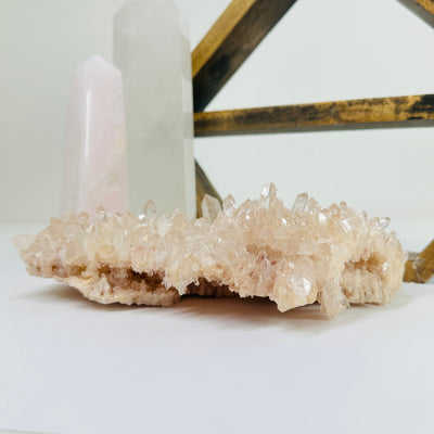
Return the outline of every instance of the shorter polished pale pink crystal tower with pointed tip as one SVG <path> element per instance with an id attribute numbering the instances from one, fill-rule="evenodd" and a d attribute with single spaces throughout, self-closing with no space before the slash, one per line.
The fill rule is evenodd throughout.
<path id="1" fill-rule="evenodd" d="M 102 206 L 128 209 L 123 80 L 119 69 L 94 55 L 74 72 L 66 120 L 61 215 L 93 216 Z"/>

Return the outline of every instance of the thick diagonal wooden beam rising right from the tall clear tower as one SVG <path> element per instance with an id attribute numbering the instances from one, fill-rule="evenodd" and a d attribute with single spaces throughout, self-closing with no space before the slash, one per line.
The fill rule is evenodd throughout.
<path id="1" fill-rule="evenodd" d="M 202 112 L 295 0 L 233 0 L 192 54 L 194 111 Z"/>

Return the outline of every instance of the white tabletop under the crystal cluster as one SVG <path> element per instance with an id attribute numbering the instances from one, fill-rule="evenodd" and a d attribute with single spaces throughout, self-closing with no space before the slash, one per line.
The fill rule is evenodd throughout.
<path id="1" fill-rule="evenodd" d="M 407 248 L 433 220 L 394 222 Z M 328 321 L 260 299 L 102 306 L 26 276 L 0 227 L 0 430 L 434 433 L 434 284 Z"/>

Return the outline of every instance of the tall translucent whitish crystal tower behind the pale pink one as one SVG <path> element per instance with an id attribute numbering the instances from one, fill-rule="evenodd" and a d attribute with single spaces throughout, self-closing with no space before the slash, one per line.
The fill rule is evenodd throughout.
<path id="1" fill-rule="evenodd" d="M 187 22 L 169 0 L 127 1 L 114 24 L 123 73 L 130 209 L 195 217 L 193 102 Z"/>

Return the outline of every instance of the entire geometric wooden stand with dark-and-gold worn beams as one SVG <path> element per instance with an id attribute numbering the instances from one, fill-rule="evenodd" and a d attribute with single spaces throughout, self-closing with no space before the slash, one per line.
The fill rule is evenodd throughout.
<path id="1" fill-rule="evenodd" d="M 229 78 L 296 0 L 233 0 L 192 53 L 194 136 L 434 126 L 434 94 L 204 112 Z M 434 0 L 399 0 L 434 26 Z M 221 199 L 197 162 L 196 204 Z M 406 263 L 404 281 L 434 276 L 434 241 Z"/>

